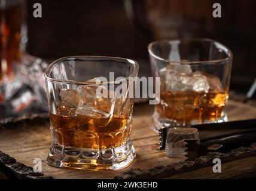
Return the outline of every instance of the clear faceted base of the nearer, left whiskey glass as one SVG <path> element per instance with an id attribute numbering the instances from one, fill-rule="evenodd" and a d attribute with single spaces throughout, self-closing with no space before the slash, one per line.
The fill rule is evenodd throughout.
<path id="1" fill-rule="evenodd" d="M 135 158 L 135 149 L 130 139 L 119 147 L 105 150 L 51 146 L 47 164 L 53 167 L 77 168 L 82 170 L 121 170 Z M 62 150 L 59 154 L 54 150 Z"/>

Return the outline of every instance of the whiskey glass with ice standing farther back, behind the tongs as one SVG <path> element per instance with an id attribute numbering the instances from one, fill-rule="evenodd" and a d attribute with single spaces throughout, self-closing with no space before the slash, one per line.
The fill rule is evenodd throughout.
<path id="1" fill-rule="evenodd" d="M 156 41 L 148 45 L 153 76 L 161 78 L 154 130 L 227 121 L 232 53 L 212 39 Z"/>

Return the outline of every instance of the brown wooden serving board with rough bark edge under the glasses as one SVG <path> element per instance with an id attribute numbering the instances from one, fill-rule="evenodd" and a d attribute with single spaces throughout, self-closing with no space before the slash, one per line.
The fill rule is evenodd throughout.
<path id="1" fill-rule="evenodd" d="M 256 144 L 226 154 L 212 153 L 209 156 L 198 158 L 196 161 L 185 161 L 185 158 L 168 158 L 164 151 L 158 150 L 158 136 L 153 131 L 152 114 L 153 106 L 135 105 L 132 141 L 136 150 L 136 158 L 128 168 L 121 171 L 69 170 L 48 166 L 45 159 L 50 148 L 51 135 L 47 116 L 26 116 L 23 119 L 2 121 L 0 123 L 0 150 L 28 167 L 35 165 L 33 159 L 42 159 L 42 172 L 45 177 L 53 178 L 256 177 Z M 230 100 L 227 104 L 227 114 L 230 121 L 254 119 L 256 118 L 256 107 Z M 227 132 L 205 131 L 200 138 L 223 133 Z M 212 159 L 217 157 L 221 158 L 223 162 L 222 173 L 212 172 L 214 165 Z"/>

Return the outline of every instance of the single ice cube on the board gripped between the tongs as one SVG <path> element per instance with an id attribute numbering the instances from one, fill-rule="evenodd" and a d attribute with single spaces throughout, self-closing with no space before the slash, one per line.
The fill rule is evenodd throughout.
<path id="1" fill-rule="evenodd" d="M 185 140 L 198 140 L 196 128 L 177 127 L 169 128 L 166 138 L 165 152 L 167 156 L 182 157 L 186 154 Z"/>

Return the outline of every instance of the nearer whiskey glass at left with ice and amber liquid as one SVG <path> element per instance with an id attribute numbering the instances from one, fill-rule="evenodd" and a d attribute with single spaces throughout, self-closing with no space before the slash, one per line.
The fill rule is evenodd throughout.
<path id="1" fill-rule="evenodd" d="M 97 56 L 60 58 L 48 66 L 45 82 L 53 139 L 49 165 L 119 170 L 133 161 L 133 98 L 127 94 L 135 85 L 121 96 L 115 90 L 135 78 L 138 68 L 133 60 Z"/>

